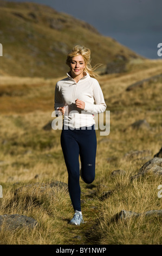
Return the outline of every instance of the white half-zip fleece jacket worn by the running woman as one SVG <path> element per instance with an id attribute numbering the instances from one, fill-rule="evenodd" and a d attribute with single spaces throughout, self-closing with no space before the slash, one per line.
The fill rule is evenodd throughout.
<path id="1" fill-rule="evenodd" d="M 85 72 L 77 83 L 67 73 L 67 78 L 56 83 L 55 87 L 55 112 L 57 109 L 65 107 L 64 125 L 79 128 L 95 124 L 94 114 L 104 112 L 106 103 L 99 82 Z M 75 100 L 85 102 L 85 109 L 80 110 L 76 107 Z M 95 102 L 95 104 L 94 104 Z"/>

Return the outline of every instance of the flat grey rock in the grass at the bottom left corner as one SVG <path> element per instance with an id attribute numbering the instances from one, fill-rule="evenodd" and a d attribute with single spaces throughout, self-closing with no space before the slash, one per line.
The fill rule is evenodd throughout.
<path id="1" fill-rule="evenodd" d="M 0 215 L 0 230 L 2 228 L 7 230 L 15 230 L 17 228 L 34 228 L 37 225 L 37 221 L 34 218 L 24 215 L 11 214 Z"/>

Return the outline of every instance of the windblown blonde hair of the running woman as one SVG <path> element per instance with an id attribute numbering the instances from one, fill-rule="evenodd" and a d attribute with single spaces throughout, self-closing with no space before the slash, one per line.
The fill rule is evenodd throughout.
<path id="1" fill-rule="evenodd" d="M 99 76 L 98 74 L 95 74 L 94 70 L 99 68 L 99 66 L 101 66 L 102 64 L 96 64 L 92 68 L 92 66 L 90 65 L 90 62 L 91 62 L 90 49 L 86 48 L 85 46 L 80 46 L 80 45 L 74 46 L 73 50 L 68 53 L 68 56 L 67 56 L 67 59 L 66 59 L 66 64 L 69 66 L 72 58 L 77 56 L 77 55 L 81 55 L 83 57 L 83 59 L 85 60 L 85 65 L 86 66 L 85 66 L 84 71 L 86 71 L 91 77 L 95 78 L 96 76 Z"/>

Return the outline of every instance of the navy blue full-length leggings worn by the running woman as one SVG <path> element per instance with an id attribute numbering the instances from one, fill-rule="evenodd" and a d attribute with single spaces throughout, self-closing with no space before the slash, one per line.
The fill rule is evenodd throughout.
<path id="1" fill-rule="evenodd" d="M 83 180 L 90 184 L 95 178 L 97 145 L 95 125 L 85 126 L 84 128 L 85 130 L 83 130 L 83 127 L 74 130 L 70 130 L 70 128 L 64 130 L 63 126 L 61 132 L 61 147 L 68 171 L 68 190 L 74 211 L 81 211 L 79 155 Z"/>

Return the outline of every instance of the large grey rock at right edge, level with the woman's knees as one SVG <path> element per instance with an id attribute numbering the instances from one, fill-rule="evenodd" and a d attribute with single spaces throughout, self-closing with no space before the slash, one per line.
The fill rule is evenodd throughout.
<path id="1" fill-rule="evenodd" d="M 150 161 L 146 162 L 139 170 L 138 173 L 131 177 L 131 180 L 143 176 L 146 173 L 153 173 L 162 175 L 162 158 L 154 157 Z"/>

